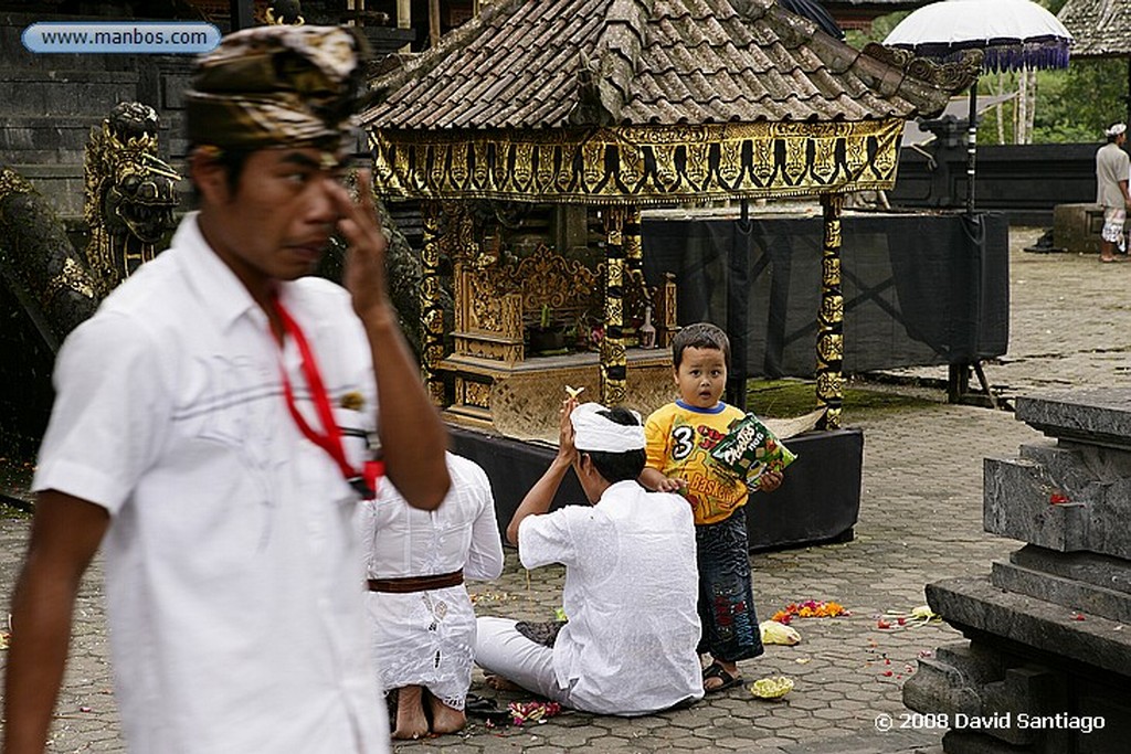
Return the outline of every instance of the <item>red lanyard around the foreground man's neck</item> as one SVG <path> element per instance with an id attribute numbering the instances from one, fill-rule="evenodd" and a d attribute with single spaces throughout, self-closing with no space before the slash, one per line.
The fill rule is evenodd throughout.
<path id="1" fill-rule="evenodd" d="M 314 361 L 314 352 L 310 349 L 310 344 L 307 343 L 307 337 L 302 333 L 302 328 L 294 321 L 291 313 L 283 307 L 278 298 L 275 298 L 274 302 L 275 311 L 283 322 L 283 330 L 294 338 L 294 343 L 299 347 L 299 355 L 302 357 L 302 374 L 307 378 L 307 387 L 310 389 L 311 399 L 314 401 L 314 411 L 318 414 L 318 421 L 325 427 L 325 432 L 316 432 L 302 413 L 299 411 L 299 407 L 294 402 L 294 390 L 291 388 L 291 379 L 287 376 L 286 369 L 280 364 L 279 373 L 283 375 L 283 395 L 286 397 L 286 407 L 290 409 L 292 418 L 294 418 L 294 423 L 299 425 L 299 430 L 308 440 L 329 453 L 330 458 L 338 465 L 338 468 L 342 469 L 342 476 L 346 478 L 346 482 L 364 500 L 373 500 L 377 496 L 377 480 L 385 470 L 383 463 L 381 461 L 366 461 L 364 469 L 359 473 L 346 460 L 345 447 L 342 444 L 342 430 L 338 427 L 337 422 L 334 421 L 334 410 L 330 408 L 330 399 L 326 393 L 322 375 L 318 371 L 318 362 Z"/>

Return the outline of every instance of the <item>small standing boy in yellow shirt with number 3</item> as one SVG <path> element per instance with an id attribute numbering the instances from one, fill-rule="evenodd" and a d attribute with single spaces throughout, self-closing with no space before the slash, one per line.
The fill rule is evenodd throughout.
<path id="1" fill-rule="evenodd" d="M 699 651 L 711 656 L 703 668 L 703 690 L 710 693 L 741 683 L 737 661 L 765 651 L 750 582 L 743 510 L 749 491 L 710 459 L 727 426 L 744 414 L 720 400 L 731 365 L 731 341 L 722 329 L 708 322 L 683 328 L 672 341 L 672 357 L 680 399 L 656 409 L 645 423 L 648 461 L 640 483 L 648 489 L 682 492 L 694 511 Z M 780 484 L 782 473 L 768 471 L 758 488 L 772 492 Z"/>

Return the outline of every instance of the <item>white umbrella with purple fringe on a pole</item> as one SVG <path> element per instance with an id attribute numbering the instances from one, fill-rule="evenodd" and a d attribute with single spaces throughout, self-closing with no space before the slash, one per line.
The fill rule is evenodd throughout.
<path id="1" fill-rule="evenodd" d="M 883 44 L 910 50 L 920 58 L 957 60 L 982 50 L 982 68 L 1068 68 L 1072 35 L 1051 12 L 1030 0 L 941 0 L 913 11 L 891 29 Z M 967 142 L 966 210 L 974 213 L 977 149 L 977 79 L 970 85 Z"/>

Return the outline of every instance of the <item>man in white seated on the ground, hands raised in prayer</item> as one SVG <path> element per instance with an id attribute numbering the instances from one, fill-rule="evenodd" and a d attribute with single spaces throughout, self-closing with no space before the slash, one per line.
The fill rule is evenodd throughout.
<path id="1" fill-rule="evenodd" d="M 515 511 L 507 539 L 528 569 L 566 565 L 568 622 L 547 647 L 524 624 L 481 617 L 475 661 L 601 714 L 647 714 L 702 697 L 691 506 L 637 483 L 645 437 L 636 411 L 571 398 L 559 430 L 558 456 Z M 547 513 L 570 467 L 592 505 Z"/>

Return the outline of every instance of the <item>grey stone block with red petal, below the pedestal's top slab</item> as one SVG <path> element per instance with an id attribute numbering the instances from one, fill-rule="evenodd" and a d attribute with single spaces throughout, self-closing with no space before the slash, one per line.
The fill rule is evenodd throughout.
<path id="1" fill-rule="evenodd" d="M 985 530 L 1050 549 L 1088 548 L 1088 505 L 1054 504 L 1060 482 L 1025 459 L 984 462 L 982 521 Z"/>

